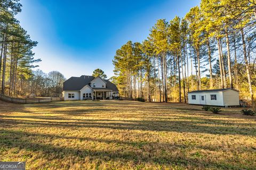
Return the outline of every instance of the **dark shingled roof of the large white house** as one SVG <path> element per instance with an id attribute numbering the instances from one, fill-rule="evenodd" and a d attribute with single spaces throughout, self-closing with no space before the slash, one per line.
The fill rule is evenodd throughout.
<path id="1" fill-rule="evenodd" d="M 95 79 L 95 78 L 91 75 L 81 75 L 81 77 L 71 77 L 63 83 L 63 90 L 64 91 L 66 91 L 66 90 L 74 90 L 74 91 L 81 90 L 86 85 L 90 86 L 90 82 L 93 79 Z M 111 83 L 109 80 L 104 80 L 104 81 L 107 82 L 105 89 L 118 91 L 115 84 Z"/>

